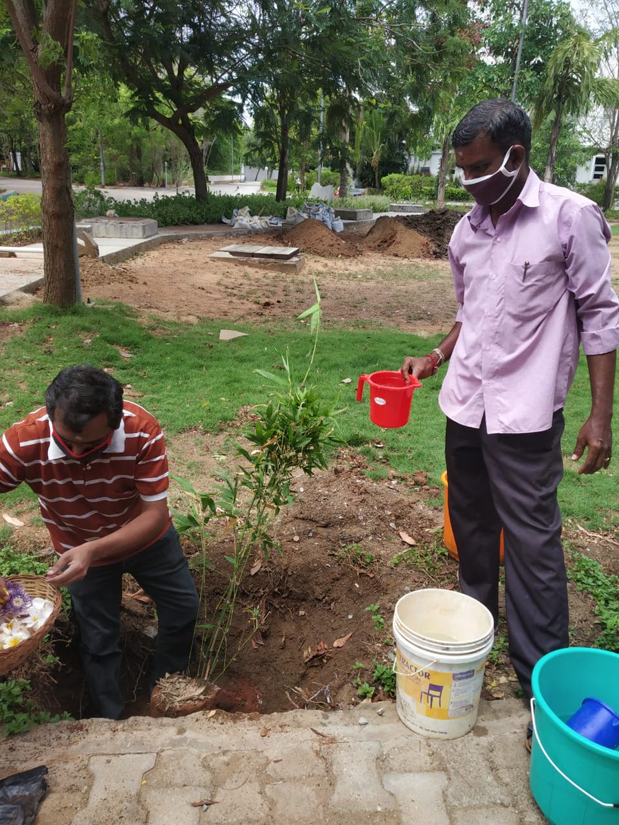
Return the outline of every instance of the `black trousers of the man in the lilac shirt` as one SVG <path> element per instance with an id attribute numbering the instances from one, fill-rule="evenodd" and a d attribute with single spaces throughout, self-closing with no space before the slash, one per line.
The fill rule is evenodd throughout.
<path id="1" fill-rule="evenodd" d="M 449 517 L 462 592 L 499 616 L 499 535 L 504 531 L 509 655 L 532 695 L 538 659 L 568 639 L 565 560 L 556 491 L 563 476 L 563 411 L 550 430 L 489 435 L 447 419 Z"/>

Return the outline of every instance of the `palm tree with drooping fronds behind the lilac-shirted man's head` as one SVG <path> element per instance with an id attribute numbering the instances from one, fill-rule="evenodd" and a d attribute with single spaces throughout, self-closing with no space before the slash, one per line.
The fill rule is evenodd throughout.
<path id="1" fill-rule="evenodd" d="M 617 30 L 593 39 L 588 31 L 574 31 L 550 54 L 546 74 L 534 109 L 534 125 L 551 121 L 550 148 L 544 180 L 552 182 L 557 144 L 564 115 L 582 117 L 593 104 L 617 106 L 619 80 L 598 78 L 598 70 L 608 46 L 617 39 Z"/>

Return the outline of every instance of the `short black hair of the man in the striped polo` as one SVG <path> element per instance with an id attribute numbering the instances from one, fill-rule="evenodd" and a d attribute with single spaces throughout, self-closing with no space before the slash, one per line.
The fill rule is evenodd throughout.
<path id="1" fill-rule="evenodd" d="M 45 407 L 54 421 L 56 409 L 62 410 L 64 423 L 72 432 L 81 432 L 91 418 L 107 414 L 113 430 L 122 418 L 122 385 L 89 364 L 61 370 L 45 390 Z"/>

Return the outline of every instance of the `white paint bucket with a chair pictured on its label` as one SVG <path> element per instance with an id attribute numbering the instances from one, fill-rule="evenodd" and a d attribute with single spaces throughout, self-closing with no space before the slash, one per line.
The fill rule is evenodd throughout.
<path id="1" fill-rule="evenodd" d="M 396 708 L 422 736 L 456 739 L 475 725 L 494 620 L 480 601 L 418 590 L 394 611 Z"/>

